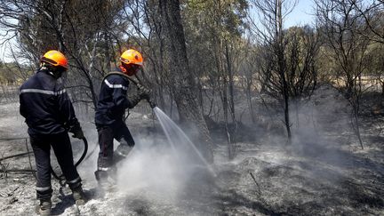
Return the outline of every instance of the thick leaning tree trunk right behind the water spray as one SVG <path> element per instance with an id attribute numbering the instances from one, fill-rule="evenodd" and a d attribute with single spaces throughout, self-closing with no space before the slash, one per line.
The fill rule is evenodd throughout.
<path id="1" fill-rule="evenodd" d="M 212 140 L 198 105 L 196 79 L 189 70 L 184 29 L 179 0 L 160 0 L 159 9 L 164 23 L 165 43 L 169 52 L 169 67 L 173 78 L 172 92 L 179 110 L 180 122 L 198 132 L 205 158 L 213 161 Z"/>

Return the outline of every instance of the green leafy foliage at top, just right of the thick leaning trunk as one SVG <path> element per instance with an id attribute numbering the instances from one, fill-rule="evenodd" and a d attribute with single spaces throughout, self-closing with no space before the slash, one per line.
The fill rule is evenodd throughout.
<path id="1" fill-rule="evenodd" d="M 246 28 L 244 0 L 193 0 L 183 4 L 189 61 L 198 76 L 223 76 L 225 47 L 239 46 Z M 216 77 L 216 78 L 214 78 Z"/>

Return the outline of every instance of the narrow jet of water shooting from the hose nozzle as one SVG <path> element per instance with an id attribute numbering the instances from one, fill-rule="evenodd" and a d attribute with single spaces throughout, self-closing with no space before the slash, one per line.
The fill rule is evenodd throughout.
<path id="1" fill-rule="evenodd" d="M 180 127 L 175 124 L 172 119 L 167 116 L 160 108 L 154 108 L 154 112 L 159 120 L 164 133 L 169 140 L 172 150 L 175 154 L 180 154 L 183 151 L 178 151 L 180 148 L 191 148 L 194 155 L 208 168 L 208 170 L 215 176 L 215 172 L 213 172 L 212 167 L 207 161 L 204 159 L 204 156 L 200 153 L 200 151 L 196 148 L 196 145 L 188 138 L 187 134 L 183 132 Z M 187 145 L 187 146 L 186 146 Z"/>

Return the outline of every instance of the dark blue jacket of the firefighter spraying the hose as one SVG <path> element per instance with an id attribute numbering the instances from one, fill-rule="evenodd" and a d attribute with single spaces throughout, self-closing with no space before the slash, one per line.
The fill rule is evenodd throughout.
<path id="1" fill-rule="evenodd" d="M 125 109 L 133 107 L 127 98 L 128 85 L 129 80 L 120 75 L 109 75 L 102 81 L 95 114 L 96 125 L 120 124 L 123 121 Z"/>

